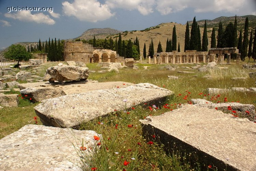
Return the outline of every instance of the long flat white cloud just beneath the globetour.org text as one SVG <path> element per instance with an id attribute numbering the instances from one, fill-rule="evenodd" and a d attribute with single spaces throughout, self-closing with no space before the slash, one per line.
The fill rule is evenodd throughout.
<path id="1" fill-rule="evenodd" d="M 30 11 L 17 11 L 15 13 L 5 13 L 4 16 L 26 22 L 55 24 L 55 21 L 49 15 L 44 15 L 43 13 L 31 14 Z"/>

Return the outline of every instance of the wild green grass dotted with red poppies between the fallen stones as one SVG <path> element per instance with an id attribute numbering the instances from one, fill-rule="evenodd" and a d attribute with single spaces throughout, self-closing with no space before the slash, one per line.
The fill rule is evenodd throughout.
<path id="1" fill-rule="evenodd" d="M 45 71 L 47 67 L 57 65 L 58 63 L 47 63 L 42 67 Z M 102 70 L 97 64 L 86 64 L 90 70 Z M 170 64 L 172 65 L 172 64 Z M 159 138 L 147 138 L 143 135 L 142 127 L 139 122 L 148 115 L 161 115 L 171 109 L 179 106 L 179 103 L 188 103 L 192 98 L 204 98 L 210 100 L 211 96 L 204 94 L 204 89 L 212 88 L 230 88 L 230 87 L 255 87 L 255 79 L 248 76 L 251 70 L 242 69 L 242 64 L 228 65 L 228 69 L 211 69 L 208 72 L 199 72 L 196 69 L 182 68 L 183 66 L 191 67 L 195 65 L 180 64 L 176 65 L 175 71 L 169 71 L 164 68 L 165 65 L 154 64 L 137 64 L 138 70 L 119 69 L 119 74 L 115 72 L 106 73 L 90 73 L 88 79 L 97 80 L 99 82 L 123 81 L 131 83 L 152 83 L 163 88 L 167 88 L 174 92 L 174 97 L 166 102 L 159 104 L 159 109 L 151 111 L 149 107 L 153 104 L 145 104 L 135 106 L 134 109 L 126 109 L 125 111 L 113 112 L 107 117 L 100 117 L 80 126 L 80 130 L 94 130 L 98 134 L 102 134 L 101 144 L 94 154 L 93 158 L 84 158 L 84 163 L 89 168 L 83 167 L 84 170 L 91 170 L 97 167 L 98 170 L 138 170 L 138 171 L 190 171 L 190 170 L 217 170 L 211 163 L 200 163 L 192 157 L 194 154 L 185 151 L 177 151 L 174 144 L 164 147 L 159 142 Z M 143 66 L 150 66 L 147 70 Z M 193 71 L 195 73 L 177 73 L 177 70 Z M 40 76 L 44 73 L 38 73 Z M 169 80 L 168 75 L 179 76 L 178 80 Z M 203 78 L 203 76 L 211 76 L 211 79 Z M 196 77 L 195 77 L 196 76 Z M 245 80 L 231 80 L 232 77 L 244 77 Z M 188 93 L 189 92 L 189 93 Z M 200 93 L 202 92 L 202 94 Z M 18 92 L 10 92 L 18 93 Z M 201 95 L 199 95 L 199 93 Z M 187 96 L 187 99 L 183 99 Z M 254 104 L 256 106 L 256 98 L 253 93 L 233 92 L 221 94 L 219 101 L 227 98 L 229 102 L 240 101 L 243 104 Z M 33 117 L 36 116 L 32 104 L 29 100 L 19 97 L 18 107 L 9 107 L 0 109 L 0 138 L 11 134 L 26 124 L 35 123 Z M 214 101 L 215 102 L 215 101 Z M 168 104 L 170 108 L 162 107 Z M 157 105 L 157 104 L 156 104 Z M 99 106 L 100 107 L 100 106 Z M 129 112 L 129 114 L 127 114 Z M 38 121 L 38 124 L 41 124 Z M 153 144 L 148 144 L 152 141 Z M 130 149 L 130 150 L 128 150 Z M 124 166 L 124 161 L 130 162 Z M 208 168 L 212 165 L 212 168 Z M 82 167 L 82 166 L 81 166 Z"/>

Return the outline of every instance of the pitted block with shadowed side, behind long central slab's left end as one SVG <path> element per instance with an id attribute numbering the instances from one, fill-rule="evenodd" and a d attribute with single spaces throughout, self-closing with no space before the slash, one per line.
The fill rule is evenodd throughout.
<path id="1" fill-rule="evenodd" d="M 23 97 L 27 95 L 27 98 L 31 98 L 31 102 L 41 102 L 45 99 L 56 98 L 66 95 L 62 88 L 51 88 L 51 87 L 28 87 L 20 90 Z"/>

